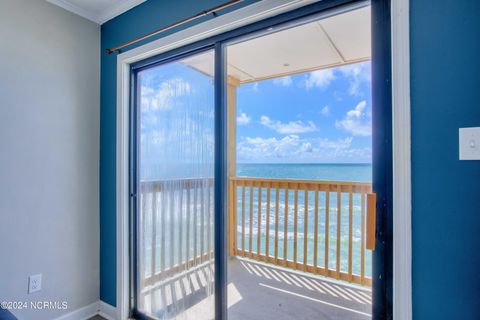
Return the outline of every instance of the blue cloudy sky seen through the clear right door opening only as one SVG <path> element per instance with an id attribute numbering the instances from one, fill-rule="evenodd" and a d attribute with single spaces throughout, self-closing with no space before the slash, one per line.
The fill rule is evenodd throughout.
<path id="1" fill-rule="evenodd" d="M 371 163 L 370 62 L 237 90 L 237 162 Z"/>

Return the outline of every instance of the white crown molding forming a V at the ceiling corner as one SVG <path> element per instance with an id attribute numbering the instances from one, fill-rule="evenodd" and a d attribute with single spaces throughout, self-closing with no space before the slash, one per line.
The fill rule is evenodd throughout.
<path id="1" fill-rule="evenodd" d="M 47 2 L 51 4 L 57 5 L 67 11 L 70 11 L 76 15 L 79 15 L 100 25 L 138 6 L 145 1 L 146 0 L 121 0 L 117 4 L 109 6 L 101 12 L 93 12 L 90 10 L 85 10 L 80 6 L 74 5 L 67 0 L 47 0 Z"/>

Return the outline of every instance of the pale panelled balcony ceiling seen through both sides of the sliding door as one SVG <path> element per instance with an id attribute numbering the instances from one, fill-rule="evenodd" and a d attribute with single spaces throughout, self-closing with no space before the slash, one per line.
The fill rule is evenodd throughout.
<path id="1" fill-rule="evenodd" d="M 365 7 L 228 47 L 228 75 L 240 83 L 366 61 L 371 56 L 370 8 Z M 213 74 L 212 53 L 183 63 Z"/>

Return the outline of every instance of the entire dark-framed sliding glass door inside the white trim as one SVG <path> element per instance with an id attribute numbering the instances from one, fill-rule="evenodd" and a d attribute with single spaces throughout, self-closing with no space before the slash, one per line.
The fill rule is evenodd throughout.
<path id="1" fill-rule="evenodd" d="M 317 314 L 326 314 L 324 309 L 318 309 L 320 305 L 334 308 L 330 311 L 337 318 L 341 317 L 338 310 L 372 319 L 391 317 L 388 303 L 391 301 L 391 250 L 387 250 L 391 247 L 391 194 L 388 193 L 391 176 L 386 174 L 391 172 L 387 170 L 391 169 L 388 142 L 391 101 L 385 93 L 390 92 L 387 68 L 390 48 L 383 47 L 389 43 L 382 40 L 386 35 L 377 34 L 383 26 L 389 26 L 389 18 L 383 16 L 389 10 L 382 7 L 382 1 L 372 2 L 370 18 L 369 9 L 361 10 L 368 2 L 351 2 L 345 5 L 340 0 L 319 1 L 131 65 L 132 318 L 222 320 L 227 317 L 256 319 L 263 315 L 273 319 L 285 314 L 308 318 L 308 312 L 314 318 Z M 363 21 L 361 28 L 350 30 L 352 23 L 345 22 L 348 19 L 356 23 Z M 381 20 L 372 32 L 370 19 Z M 371 37 L 373 43 L 371 74 L 366 62 L 370 59 L 369 42 L 360 41 L 361 45 L 355 45 L 358 48 L 350 45 L 363 39 L 356 36 L 357 31 L 364 32 L 366 39 Z M 282 34 L 284 37 L 279 37 Z M 332 41 L 344 46 L 336 46 Z M 315 50 L 309 51 L 310 47 Z M 350 53 L 342 55 L 339 50 Z M 364 64 L 358 65 L 360 62 Z M 332 66 L 337 69 L 329 69 Z M 371 93 L 371 103 L 368 102 L 370 76 L 373 80 L 383 79 L 384 85 L 375 86 L 375 81 L 372 82 L 371 87 L 377 89 Z M 368 89 L 363 88 L 361 97 L 351 91 L 355 81 L 363 85 L 368 82 Z M 332 84 L 331 96 L 326 96 L 324 90 L 330 82 L 335 85 Z M 344 109 L 338 109 L 343 101 L 336 99 L 338 88 L 344 88 L 342 99 L 346 102 L 341 106 Z M 246 92 L 250 98 L 245 98 Z M 269 99 L 265 98 L 267 94 Z M 333 113 L 322 102 L 330 101 L 328 99 L 333 99 L 332 103 L 337 106 L 336 120 L 328 118 Z M 299 108 L 315 108 L 312 101 L 320 103 L 323 109 L 307 110 L 305 115 L 309 114 L 310 118 L 297 119 Z M 369 103 L 371 112 L 365 109 Z M 282 104 L 285 108 L 280 108 Z M 291 113 L 290 118 L 286 116 L 287 111 Z M 361 132 L 348 125 L 352 119 L 363 128 Z M 247 124 L 249 128 L 254 125 L 257 128 L 248 129 Z M 237 125 L 243 127 L 238 129 Z M 348 183 L 341 181 L 343 178 L 335 178 L 338 181 L 332 183 L 330 178 L 314 178 L 311 165 L 308 172 L 305 171 L 304 163 L 313 156 L 320 164 L 325 161 L 324 155 L 336 157 L 338 154 L 337 147 L 324 141 L 337 140 L 316 136 L 322 125 L 342 130 L 343 136 L 330 134 L 342 137 L 336 139 L 341 140 L 343 151 L 350 150 L 350 134 L 356 141 L 360 141 L 359 137 L 372 136 L 371 142 L 367 141 L 373 150 L 371 183 L 358 182 L 363 179 L 351 173 Z M 364 142 L 365 139 L 369 138 L 364 138 Z M 343 140 L 348 142 L 346 146 Z M 366 148 L 362 146 L 356 148 Z M 346 160 L 342 161 L 351 162 L 351 154 L 357 153 L 346 151 L 343 152 Z M 248 152 L 251 158 L 242 159 L 242 152 L 243 155 Z M 239 162 L 262 159 L 264 164 L 270 164 L 266 161 L 271 157 L 275 157 L 272 162 L 285 162 L 285 156 L 302 162 L 292 162 L 290 168 L 296 169 L 287 177 L 276 172 L 278 166 L 273 171 L 264 166 L 263 171 L 256 171 L 257 177 L 251 175 L 250 178 L 239 170 L 240 166 L 235 168 L 237 159 Z M 358 170 L 363 168 L 358 167 Z M 268 175 L 265 172 L 269 172 Z M 331 172 L 329 169 L 327 173 Z M 262 179 L 268 181 L 260 181 Z M 279 181 L 281 179 L 284 181 Z M 309 179 L 309 183 L 300 186 L 298 179 Z M 329 183 L 326 185 L 320 180 Z M 280 190 L 282 188 L 284 190 Z M 367 194 L 372 190 L 378 192 L 376 203 L 367 201 Z M 363 223 L 365 214 L 375 212 L 368 211 L 369 208 L 381 211 L 376 220 L 379 231 L 370 235 L 373 240 L 382 237 L 372 253 L 370 273 L 369 268 L 365 268 L 369 256 L 363 243 L 368 229 Z M 319 219 L 315 218 L 316 211 Z M 319 235 L 319 230 L 325 230 L 325 234 Z M 228 269 L 227 254 L 231 257 Z M 266 265 L 257 263 L 249 269 L 246 263 L 253 260 L 277 266 L 266 269 Z M 234 263 L 230 263 L 232 261 Z M 355 261 L 359 263 L 355 265 Z M 235 266 L 242 266 L 245 272 L 239 272 L 242 269 Z M 295 270 L 277 267 L 312 274 L 298 278 Z M 279 270 L 282 273 L 278 273 Z M 274 276 L 277 273 L 278 279 Z M 357 292 L 349 285 L 320 281 L 314 278 L 318 274 L 371 285 L 372 291 Z M 248 284 L 245 276 L 252 279 L 254 285 Z M 277 283 L 282 282 L 280 278 L 287 279 L 282 283 L 284 287 Z M 297 278 L 298 283 L 307 285 L 295 285 Z M 292 288 L 300 291 L 285 296 L 292 293 Z M 310 291 L 315 291 L 315 296 Z M 281 303 L 281 299 L 286 302 Z M 313 302 L 315 307 L 310 308 L 298 299 Z M 287 312 L 287 305 L 301 310 Z M 252 316 L 247 317 L 245 310 Z"/>

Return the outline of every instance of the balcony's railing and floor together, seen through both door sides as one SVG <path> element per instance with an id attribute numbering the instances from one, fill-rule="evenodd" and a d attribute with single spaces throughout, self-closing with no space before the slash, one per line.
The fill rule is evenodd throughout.
<path id="1" fill-rule="evenodd" d="M 370 183 L 230 178 L 230 318 L 370 318 L 370 193 Z M 143 182 L 140 200 L 139 304 L 212 318 L 213 180 Z"/>

